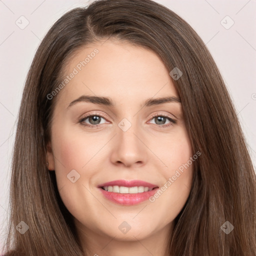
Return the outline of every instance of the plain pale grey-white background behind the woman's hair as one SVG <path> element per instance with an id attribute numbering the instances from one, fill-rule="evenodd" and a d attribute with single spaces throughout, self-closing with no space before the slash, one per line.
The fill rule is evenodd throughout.
<path id="1" fill-rule="evenodd" d="M 155 1 L 184 18 L 210 50 L 235 104 L 255 166 L 256 0 Z M 0 0 L 0 241 L 8 219 L 11 154 L 27 71 L 50 26 L 67 10 L 88 2 L 92 0 Z M 220 23 L 231 24 L 226 15 L 234 21 L 229 29 Z M 29 24 L 21 29 L 25 19 Z"/>

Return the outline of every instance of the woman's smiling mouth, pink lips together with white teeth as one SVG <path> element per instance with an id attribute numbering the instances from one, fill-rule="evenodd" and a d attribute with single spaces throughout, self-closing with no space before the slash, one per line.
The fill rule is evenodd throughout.
<path id="1" fill-rule="evenodd" d="M 117 204 L 134 205 L 147 200 L 159 188 L 141 180 L 115 180 L 98 186 L 102 195 Z"/>

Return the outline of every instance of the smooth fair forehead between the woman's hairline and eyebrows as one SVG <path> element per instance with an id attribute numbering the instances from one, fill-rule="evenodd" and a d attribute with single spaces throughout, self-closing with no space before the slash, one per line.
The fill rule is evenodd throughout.
<path id="1" fill-rule="evenodd" d="M 169 71 L 155 52 L 127 42 L 107 40 L 89 44 L 66 62 L 61 100 L 82 94 L 109 96 L 115 102 L 178 96 Z"/>

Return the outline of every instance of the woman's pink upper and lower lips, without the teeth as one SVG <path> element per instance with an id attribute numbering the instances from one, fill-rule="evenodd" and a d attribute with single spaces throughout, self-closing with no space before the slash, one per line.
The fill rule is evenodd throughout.
<path id="1" fill-rule="evenodd" d="M 116 192 L 108 192 L 101 188 L 102 186 L 113 186 L 113 185 L 127 186 L 127 187 L 147 186 L 149 188 L 154 188 L 154 189 L 152 189 L 151 191 L 146 191 L 142 193 L 122 194 L 122 193 L 116 193 Z M 98 188 L 107 199 L 115 203 L 122 204 L 122 205 L 134 205 L 147 200 L 150 196 L 152 196 L 156 192 L 158 186 L 145 181 L 141 181 L 141 180 L 131 180 L 131 181 L 114 180 L 114 181 L 100 184 Z"/>

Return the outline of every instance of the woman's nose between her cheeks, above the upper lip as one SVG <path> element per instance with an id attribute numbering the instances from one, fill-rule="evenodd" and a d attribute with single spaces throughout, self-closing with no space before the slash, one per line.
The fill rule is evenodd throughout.
<path id="1" fill-rule="evenodd" d="M 148 159 L 148 149 L 142 132 L 135 124 L 126 130 L 116 127 L 110 160 L 114 165 L 125 167 L 142 166 Z"/>

